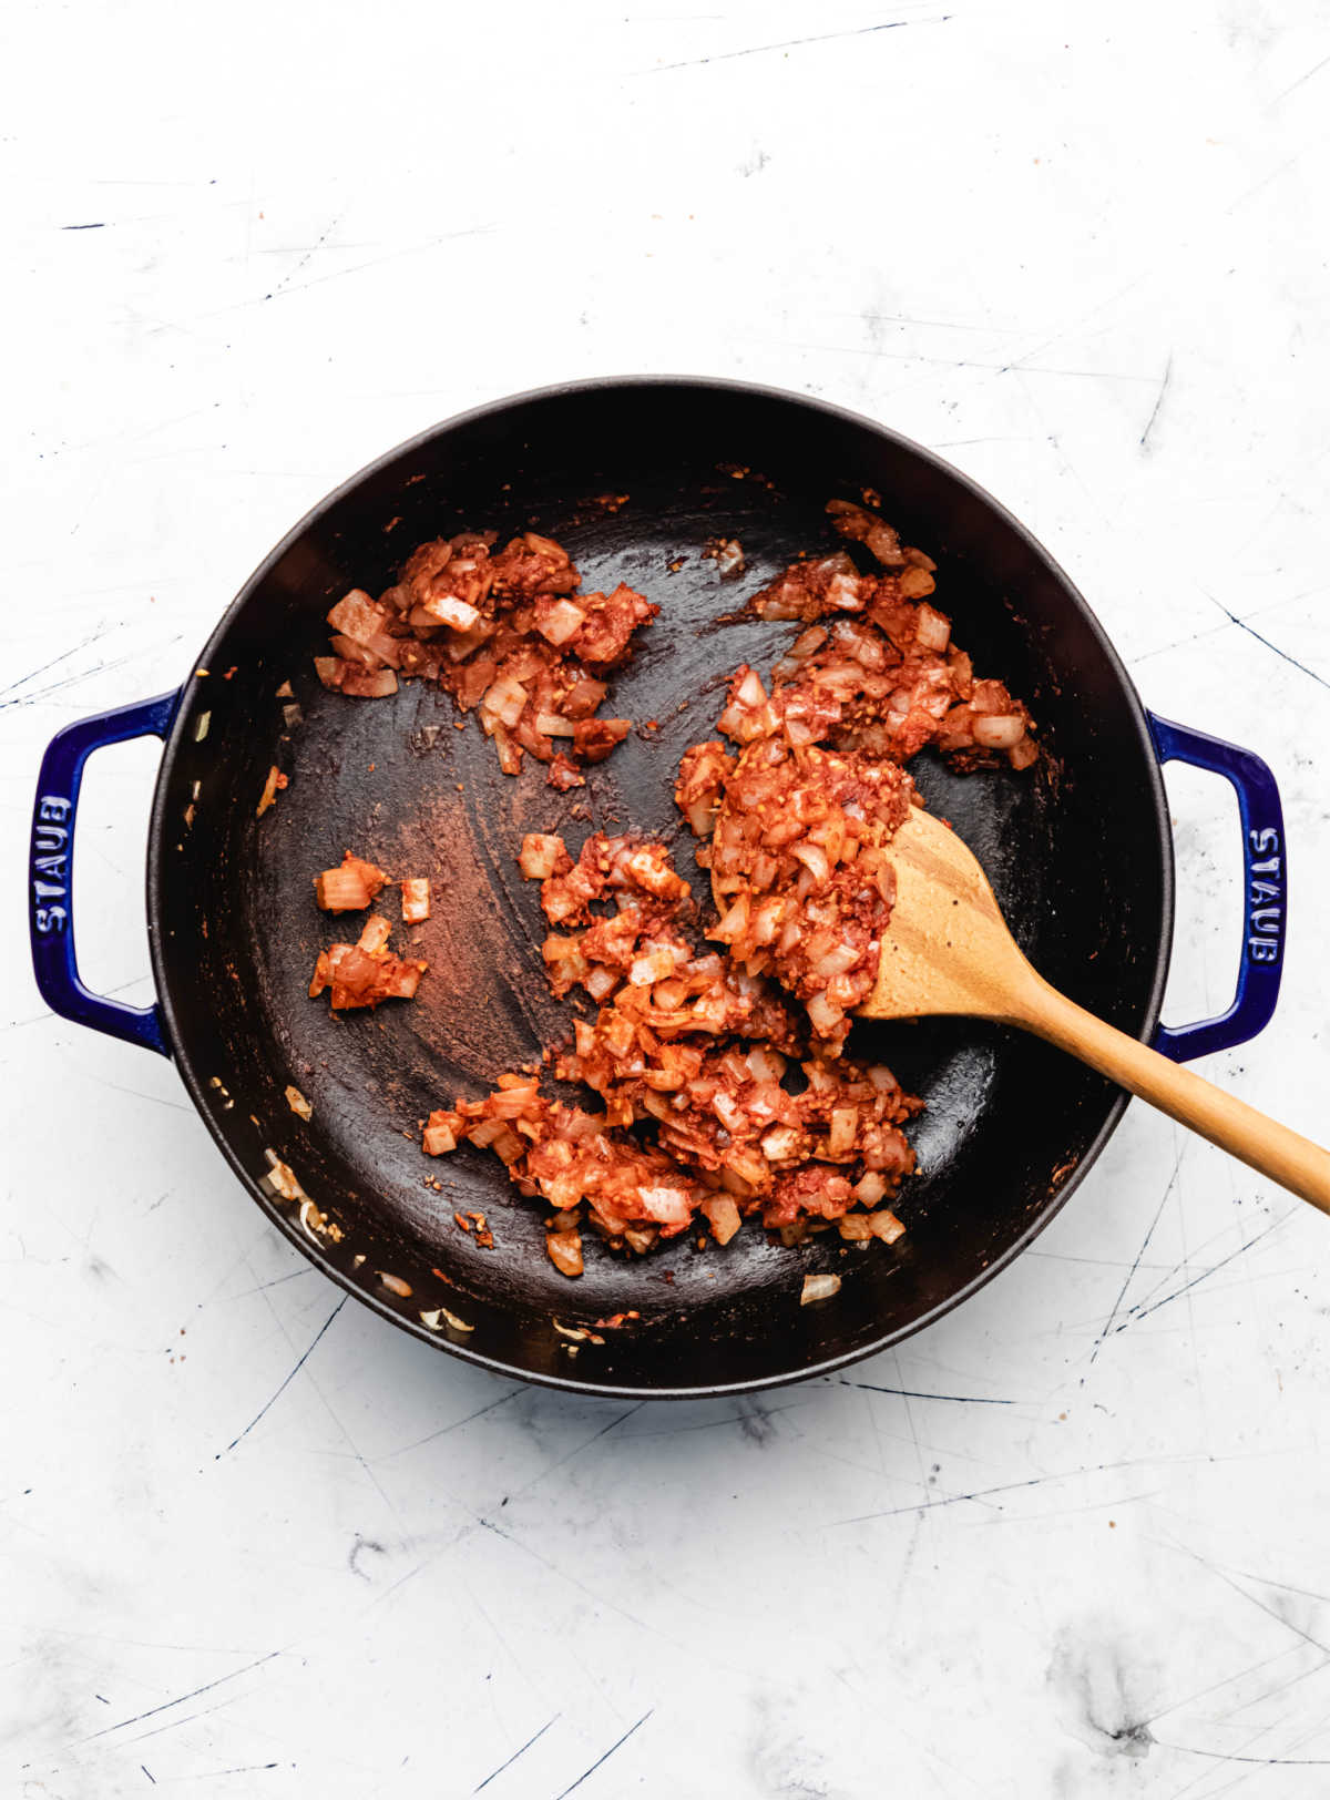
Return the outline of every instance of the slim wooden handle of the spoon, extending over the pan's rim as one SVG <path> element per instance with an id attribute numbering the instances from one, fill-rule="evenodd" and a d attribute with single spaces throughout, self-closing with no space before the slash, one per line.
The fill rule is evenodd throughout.
<path id="1" fill-rule="evenodd" d="M 1310 1138 L 1301 1138 L 1256 1107 L 1226 1094 L 1222 1087 L 1179 1067 L 1157 1049 L 1137 1044 L 1038 976 L 1022 994 L 1022 1003 L 1015 1022 L 1089 1062 L 1100 1075 L 1148 1100 L 1179 1125 L 1200 1132 L 1220 1150 L 1330 1213 L 1330 1154 Z"/>

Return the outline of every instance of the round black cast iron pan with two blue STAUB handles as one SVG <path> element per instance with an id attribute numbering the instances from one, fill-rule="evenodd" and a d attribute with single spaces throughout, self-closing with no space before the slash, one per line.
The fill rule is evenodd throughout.
<path id="1" fill-rule="evenodd" d="M 927 1102 L 912 1130 L 921 1174 L 898 1204 L 909 1231 L 891 1251 L 833 1235 L 783 1249 L 756 1228 L 725 1251 L 686 1238 L 641 1262 L 592 1242 L 571 1283 L 544 1255 L 542 1208 L 508 1188 L 493 1156 L 466 1147 L 427 1161 L 418 1132 L 434 1105 L 482 1093 L 569 1028 L 544 992 L 536 889 L 513 860 L 524 832 L 560 830 L 576 846 L 590 826 L 572 806 L 590 799 L 596 824 L 664 833 L 705 893 L 671 803 L 678 754 L 711 734 L 725 673 L 743 659 L 768 666 L 794 630 L 722 616 L 797 553 L 831 547 L 824 502 L 866 486 L 938 558 L 939 605 L 975 666 L 1024 695 L 1038 722 L 1047 754 L 1033 774 L 959 778 L 927 754 L 914 765 L 1024 949 L 1076 1001 L 1177 1057 L 1251 1037 L 1280 976 L 1281 913 L 1271 923 L 1269 907 L 1263 931 L 1249 907 L 1229 1013 L 1155 1030 L 1172 936 L 1159 760 L 1227 774 L 1249 862 L 1283 844 L 1265 765 L 1152 720 L 1067 578 L 945 463 L 806 398 L 675 378 L 545 389 L 392 450 L 252 576 L 198 657 L 207 675 L 61 733 L 34 821 L 47 1001 L 173 1055 L 277 1228 L 385 1318 L 486 1368 L 587 1393 L 725 1393 L 833 1370 L 920 1330 L 1047 1224 L 1121 1118 L 1123 1094 L 1029 1037 L 968 1021 L 855 1028 L 853 1048 Z M 587 587 L 626 580 L 662 603 L 607 706 L 659 731 L 630 736 L 587 790 L 558 796 L 531 761 L 508 779 L 475 722 L 454 729 L 450 700 L 430 686 L 351 700 L 315 679 L 333 599 L 353 585 L 382 590 L 425 538 L 490 526 L 500 536 L 535 526 L 569 545 Z M 740 581 L 722 583 L 702 556 L 714 535 L 743 544 Z M 288 680 L 299 722 L 277 695 Z M 167 740 L 148 855 L 160 999 L 135 1012 L 77 981 L 68 850 L 83 760 L 144 733 Z M 272 763 L 290 787 L 257 819 Z M 430 961 L 419 997 L 335 1019 L 306 985 L 319 947 L 346 929 L 315 911 L 310 880 L 346 848 L 396 875 L 432 875 L 436 907 L 427 925 L 394 932 Z M 288 1084 L 311 1100 L 308 1123 Z M 274 1157 L 311 1204 L 274 1192 Z M 436 1175 L 443 1193 L 427 1184 Z M 484 1211 L 493 1249 L 457 1229 L 454 1210 Z M 810 1271 L 844 1278 L 835 1300 L 799 1305 Z M 599 1345 L 553 1323 L 628 1309 L 641 1319 Z"/>

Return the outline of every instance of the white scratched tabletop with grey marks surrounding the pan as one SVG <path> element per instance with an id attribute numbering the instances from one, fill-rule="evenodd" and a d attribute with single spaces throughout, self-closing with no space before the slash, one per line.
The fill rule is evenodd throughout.
<path id="1" fill-rule="evenodd" d="M 50 733 L 173 686 L 329 486 L 533 383 L 732 373 L 979 477 L 1150 704 L 1274 765 L 1285 999 L 1206 1073 L 1330 1134 L 1323 5 L 13 0 L 5 38 L 11 941 Z M 153 763 L 101 760 L 79 851 L 130 997 Z M 1182 1017 L 1227 999 L 1236 830 L 1173 794 Z M 166 1062 L 4 983 L 5 1795 L 1330 1791 L 1330 1237 L 1208 1147 L 1132 1107 L 844 1381 L 576 1400 L 338 1303 Z"/>

